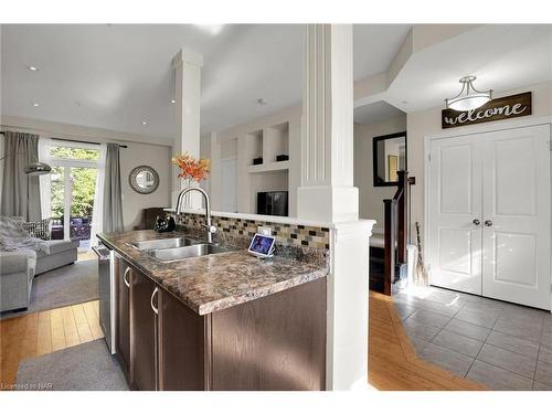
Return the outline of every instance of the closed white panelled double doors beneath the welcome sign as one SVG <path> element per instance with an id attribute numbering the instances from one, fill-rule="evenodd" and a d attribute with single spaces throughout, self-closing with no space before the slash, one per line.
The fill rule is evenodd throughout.
<path id="1" fill-rule="evenodd" d="M 551 307 L 550 126 L 435 139 L 431 284 Z"/>

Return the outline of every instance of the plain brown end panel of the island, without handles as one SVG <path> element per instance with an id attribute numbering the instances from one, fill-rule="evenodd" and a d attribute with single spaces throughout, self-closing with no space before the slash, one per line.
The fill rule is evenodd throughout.
<path id="1" fill-rule="evenodd" d="M 215 391 L 326 389 L 326 279 L 211 314 Z"/>

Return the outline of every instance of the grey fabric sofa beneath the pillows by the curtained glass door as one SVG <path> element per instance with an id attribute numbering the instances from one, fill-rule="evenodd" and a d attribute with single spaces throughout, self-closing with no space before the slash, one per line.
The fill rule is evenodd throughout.
<path id="1" fill-rule="evenodd" d="M 0 252 L 0 311 L 28 308 L 34 276 L 76 262 L 78 242 L 46 243 L 49 254 L 29 248 Z"/>

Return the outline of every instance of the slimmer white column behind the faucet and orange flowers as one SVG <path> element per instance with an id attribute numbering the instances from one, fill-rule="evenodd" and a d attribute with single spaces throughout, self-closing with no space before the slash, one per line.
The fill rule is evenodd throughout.
<path id="1" fill-rule="evenodd" d="M 177 100 L 177 135 L 172 150 L 174 153 L 188 152 L 200 156 L 200 106 L 201 106 L 201 67 L 203 55 L 189 49 L 181 49 L 172 59 Z M 176 205 L 180 190 L 185 187 L 178 178 L 178 168 L 173 168 L 172 204 Z M 192 208 L 201 209 L 201 197 L 194 193 Z"/>

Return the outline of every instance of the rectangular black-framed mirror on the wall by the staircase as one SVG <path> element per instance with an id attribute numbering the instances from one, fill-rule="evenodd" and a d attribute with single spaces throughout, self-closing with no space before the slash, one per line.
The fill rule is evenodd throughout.
<path id="1" fill-rule="evenodd" d="M 406 171 L 406 132 L 374 137 L 372 152 L 374 187 L 396 185 L 396 171 Z"/>

